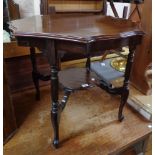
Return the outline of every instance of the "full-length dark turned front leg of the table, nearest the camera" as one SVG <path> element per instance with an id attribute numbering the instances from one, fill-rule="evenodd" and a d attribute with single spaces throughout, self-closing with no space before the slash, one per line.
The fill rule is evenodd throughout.
<path id="1" fill-rule="evenodd" d="M 58 148 L 59 146 L 59 120 L 60 120 L 60 105 L 59 105 L 59 79 L 58 79 L 58 53 L 56 50 L 56 44 L 54 40 L 46 40 L 46 52 L 47 59 L 50 64 L 51 72 L 51 121 L 53 125 L 53 146 Z"/>

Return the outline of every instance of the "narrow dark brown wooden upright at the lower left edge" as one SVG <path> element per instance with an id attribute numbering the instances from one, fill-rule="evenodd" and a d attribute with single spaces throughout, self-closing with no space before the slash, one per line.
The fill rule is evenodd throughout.
<path id="1" fill-rule="evenodd" d="M 6 143 L 15 133 L 17 124 L 5 64 L 3 71 L 3 142 Z"/>

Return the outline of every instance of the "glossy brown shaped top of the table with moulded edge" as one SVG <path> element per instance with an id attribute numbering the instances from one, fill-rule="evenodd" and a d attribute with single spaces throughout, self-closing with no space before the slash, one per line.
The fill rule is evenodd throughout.
<path id="1" fill-rule="evenodd" d="M 10 29 L 15 36 L 81 42 L 144 34 L 139 26 L 130 20 L 103 15 L 38 15 L 11 21 Z"/>

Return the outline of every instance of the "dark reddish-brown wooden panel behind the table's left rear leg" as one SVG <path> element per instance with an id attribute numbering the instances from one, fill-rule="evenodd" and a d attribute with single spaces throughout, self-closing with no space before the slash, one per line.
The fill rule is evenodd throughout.
<path id="1" fill-rule="evenodd" d="M 5 59 L 5 63 L 11 93 L 34 88 L 29 55 Z M 49 73 L 48 63 L 40 54 L 37 55 L 37 64 L 41 73 Z M 40 85 L 46 85 L 46 82 L 40 82 Z"/>

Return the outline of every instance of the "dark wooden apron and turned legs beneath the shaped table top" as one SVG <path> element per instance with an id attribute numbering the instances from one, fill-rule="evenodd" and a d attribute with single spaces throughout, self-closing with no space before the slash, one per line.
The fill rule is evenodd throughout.
<path id="1" fill-rule="evenodd" d="M 115 28 L 115 27 L 114 27 Z M 86 57 L 89 55 L 94 55 L 97 52 L 105 51 L 109 49 L 117 49 L 123 46 L 129 47 L 129 55 L 127 59 L 126 71 L 124 75 L 124 84 L 120 89 L 116 89 L 117 94 L 121 95 L 121 102 L 119 106 L 118 119 L 123 120 L 123 107 L 127 101 L 129 95 L 129 77 L 132 67 L 132 62 L 134 58 L 135 48 L 141 43 L 143 32 L 139 30 L 137 33 L 129 32 L 128 35 L 118 36 L 118 37 L 93 37 L 90 39 L 77 39 L 72 38 L 62 38 L 62 37 L 48 37 L 48 36 L 38 36 L 38 35 L 26 35 L 26 34 L 15 34 L 18 45 L 29 46 L 31 52 L 31 59 L 33 65 L 33 71 L 35 72 L 35 50 L 34 47 L 38 47 L 46 55 L 49 65 L 50 65 L 50 79 L 51 79 L 51 120 L 54 129 L 54 140 L 53 144 L 57 148 L 59 144 L 59 117 L 61 113 L 61 107 L 58 99 L 58 51 L 67 51 L 74 54 L 83 53 Z M 35 76 L 36 74 L 34 74 Z M 35 77 L 34 77 L 35 79 Z M 47 80 L 46 78 L 42 78 Z M 36 82 L 36 83 L 35 83 Z M 37 85 L 37 80 L 35 81 L 36 90 L 39 93 L 39 86 Z M 114 94 L 116 94 L 116 91 Z M 40 96 L 40 95 L 38 95 Z"/>

